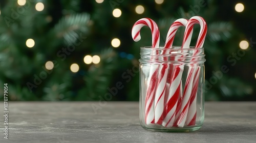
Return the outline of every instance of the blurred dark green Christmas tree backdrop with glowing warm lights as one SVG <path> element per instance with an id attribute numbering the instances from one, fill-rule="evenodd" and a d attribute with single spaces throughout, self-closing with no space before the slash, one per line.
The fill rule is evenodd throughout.
<path id="1" fill-rule="evenodd" d="M 256 101 L 256 1 L 1 0 L 0 93 L 12 101 L 138 101 L 138 59 L 150 46 L 133 24 L 150 17 L 164 45 L 178 18 L 204 17 L 205 99 Z M 199 25 L 194 27 L 195 45 Z M 174 45 L 181 45 L 184 28 Z M 3 100 L 3 94 L 0 94 Z"/>

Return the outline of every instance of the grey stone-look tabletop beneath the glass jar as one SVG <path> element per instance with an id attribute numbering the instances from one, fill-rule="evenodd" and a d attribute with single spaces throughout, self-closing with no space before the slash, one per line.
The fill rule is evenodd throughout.
<path id="1" fill-rule="evenodd" d="M 256 102 L 206 102 L 202 128 L 185 133 L 144 130 L 138 102 L 9 102 L 8 108 L 8 139 L 0 116 L 1 143 L 256 142 Z"/>

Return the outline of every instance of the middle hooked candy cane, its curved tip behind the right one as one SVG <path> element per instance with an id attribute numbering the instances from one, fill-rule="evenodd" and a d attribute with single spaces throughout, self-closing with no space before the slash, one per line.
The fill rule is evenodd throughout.
<path id="1" fill-rule="evenodd" d="M 177 19 L 169 28 L 167 33 L 165 48 L 172 48 L 175 34 L 180 26 L 186 26 L 187 20 L 184 18 Z M 174 57 L 171 60 L 175 60 Z M 184 65 L 176 64 L 171 65 L 172 75 L 170 77 L 169 93 L 164 109 L 164 120 L 162 125 L 165 127 L 172 127 L 176 116 L 176 107 L 181 90 L 181 77 Z"/>

